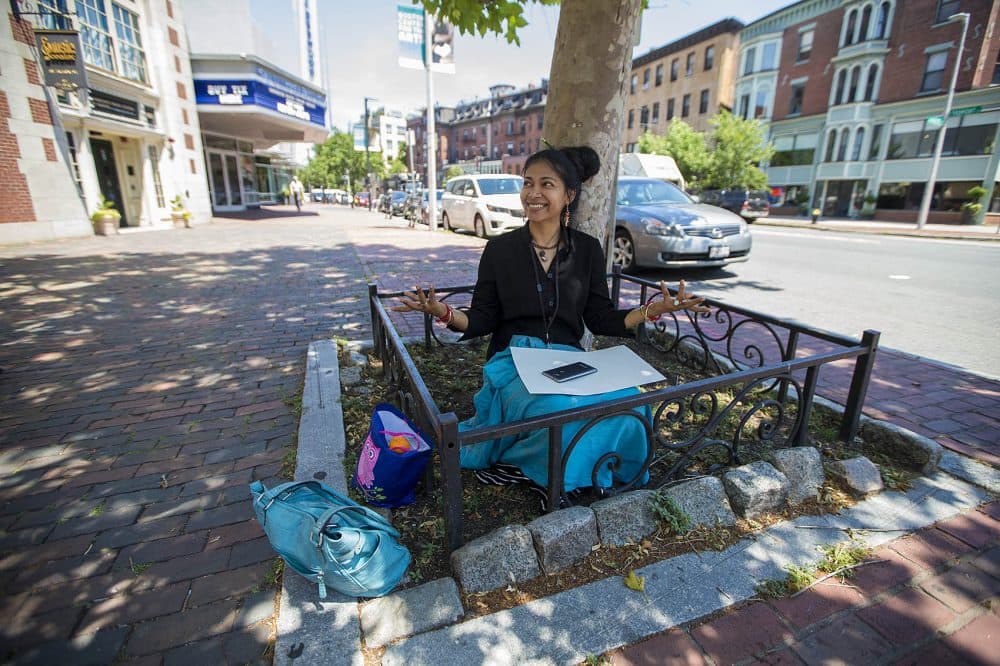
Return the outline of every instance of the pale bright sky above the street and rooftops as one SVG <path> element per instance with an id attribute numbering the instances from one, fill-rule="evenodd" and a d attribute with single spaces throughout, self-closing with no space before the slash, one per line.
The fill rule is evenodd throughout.
<path id="1" fill-rule="evenodd" d="M 401 0 L 410 4 L 409 0 Z M 581 0 L 577 0 L 581 1 Z M 586 0 L 582 0 L 586 1 Z M 323 40 L 328 100 L 333 124 L 349 129 L 364 114 L 364 98 L 375 98 L 369 109 L 385 106 L 404 114 L 427 106 L 427 83 L 422 70 L 398 65 L 396 0 L 317 0 Z M 750 23 L 793 0 L 649 0 L 643 13 L 639 45 L 641 56 L 685 35 L 728 17 Z M 297 72 L 292 13 L 285 2 L 251 0 L 254 18 L 276 49 L 272 62 Z M 521 45 L 501 37 L 460 35 L 455 32 L 455 74 L 434 74 L 435 101 L 451 106 L 489 96 L 489 88 L 506 83 L 517 88 L 548 78 L 559 24 L 558 6 L 530 4 L 528 26 L 519 31 Z M 265 54 L 261 54 L 265 58 Z"/>

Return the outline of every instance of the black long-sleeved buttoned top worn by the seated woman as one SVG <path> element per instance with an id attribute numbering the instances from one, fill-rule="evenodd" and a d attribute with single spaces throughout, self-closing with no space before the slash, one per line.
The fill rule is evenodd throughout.
<path id="1" fill-rule="evenodd" d="M 625 328 L 628 310 L 615 309 L 608 295 L 600 244 L 576 229 L 565 229 L 563 239 L 564 246 L 548 274 L 543 272 L 531 247 L 527 225 L 490 240 L 479 260 L 472 306 L 464 310 L 469 326 L 461 339 L 492 333 L 487 359 L 506 349 L 514 335 L 544 340 L 543 304 L 545 316 L 551 316 L 558 304 L 549 329 L 550 342 L 579 347 L 584 324 L 598 335 L 630 336 L 631 331 Z M 556 262 L 559 262 L 558 299 L 555 298 Z"/>

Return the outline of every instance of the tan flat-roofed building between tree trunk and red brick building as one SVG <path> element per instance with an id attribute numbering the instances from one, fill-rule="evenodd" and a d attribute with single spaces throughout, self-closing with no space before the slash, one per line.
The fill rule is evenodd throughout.
<path id="1" fill-rule="evenodd" d="M 634 152 L 640 136 L 662 134 L 674 118 L 705 132 L 719 109 L 733 108 L 742 27 L 724 19 L 632 61 L 622 150 Z"/>

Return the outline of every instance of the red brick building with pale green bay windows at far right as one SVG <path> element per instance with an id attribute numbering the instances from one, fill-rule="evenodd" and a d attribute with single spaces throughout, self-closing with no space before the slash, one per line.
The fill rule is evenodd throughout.
<path id="1" fill-rule="evenodd" d="M 825 215 L 916 220 L 961 38 L 961 22 L 947 19 L 958 12 L 969 13 L 969 28 L 929 221 L 960 221 L 977 185 L 1000 213 L 995 0 L 805 0 L 748 25 L 741 58 L 754 38 L 778 44 L 765 111 L 744 112 L 743 76 L 737 112 L 769 122 L 776 153 L 767 173 L 779 204 L 808 197 Z"/>

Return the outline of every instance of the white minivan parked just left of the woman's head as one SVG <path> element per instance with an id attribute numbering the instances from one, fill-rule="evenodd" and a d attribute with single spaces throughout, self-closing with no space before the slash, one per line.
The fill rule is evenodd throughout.
<path id="1" fill-rule="evenodd" d="M 474 174 L 452 178 L 441 195 L 445 229 L 469 229 L 480 238 L 524 226 L 521 187 L 524 180 L 509 174 Z"/>

